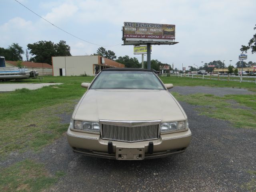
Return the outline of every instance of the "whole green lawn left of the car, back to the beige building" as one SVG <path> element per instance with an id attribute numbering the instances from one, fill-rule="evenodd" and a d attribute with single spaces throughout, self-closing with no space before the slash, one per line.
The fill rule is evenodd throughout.
<path id="1" fill-rule="evenodd" d="M 38 90 L 21 89 L 1 93 L 0 159 L 14 151 L 38 150 L 62 136 L 68 124 L 61 124 L 56 114 L 71 114 L 77 100 L 86 91 L 80 84 L 92 79 L 93 77 L 47 77 L 44 78 L 44 83 L 52 81 L 64 84 Z M 31 81 L 35 80 L 29 80 Z"/>

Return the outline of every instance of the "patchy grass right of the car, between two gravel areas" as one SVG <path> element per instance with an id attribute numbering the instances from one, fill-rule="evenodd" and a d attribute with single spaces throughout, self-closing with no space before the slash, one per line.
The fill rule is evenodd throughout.
<path id="1" fill-rule="evenodd" d="M 203 106 L 197 108 L 200 115 L 227 120 L 237 128 L 256 130 L 256 94 L 223 97 L 203 93 L 180 95 L 172 92 L 172 94 L 179 101 Z"/>

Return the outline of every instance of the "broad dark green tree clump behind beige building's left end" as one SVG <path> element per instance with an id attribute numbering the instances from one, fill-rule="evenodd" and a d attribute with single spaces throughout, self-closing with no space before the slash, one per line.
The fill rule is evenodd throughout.
<path id="1" fill-rule="evenodd" d="M 70 46 L 66 45 L 66 41 L 60 40 L 54 44 L 51 41 L 38 41 L 28 44 L 28 50 L 34 57 L 30 61 L 52 64 L 52 56 L 71 56 Z"/>

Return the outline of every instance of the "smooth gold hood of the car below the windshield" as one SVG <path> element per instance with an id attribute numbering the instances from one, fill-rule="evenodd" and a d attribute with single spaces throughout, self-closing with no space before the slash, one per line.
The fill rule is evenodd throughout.
<path id="1" fill-rule="evenodd" d="M 75 108 L 76 120 L 162 122 L 184 120 L 186 114 L 166 90 L 88 90 Z"/>

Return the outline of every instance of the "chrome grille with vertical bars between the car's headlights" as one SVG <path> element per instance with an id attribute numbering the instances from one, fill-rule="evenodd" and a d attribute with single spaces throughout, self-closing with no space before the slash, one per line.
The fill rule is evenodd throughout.
<path id="1" fill-rule="evenodd" d="M 100 121 L 101 138 L 123 142 L 138 142 L 159 138 L 160 121 L 120 122 Z"/>

